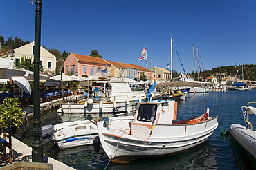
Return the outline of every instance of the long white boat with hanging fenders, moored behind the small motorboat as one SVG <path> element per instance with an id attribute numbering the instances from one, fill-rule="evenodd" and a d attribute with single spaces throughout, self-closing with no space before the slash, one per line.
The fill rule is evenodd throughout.
<path id="1" fill-rule="evenodd" d="M 133 93 L 129 84 L 110 83 L 109 97 L 88 99 L 77 103 L 64 103 L 58 113 L 129 113 L 135 110 L 136 102 L 144 100 L 145 93 Z"/>

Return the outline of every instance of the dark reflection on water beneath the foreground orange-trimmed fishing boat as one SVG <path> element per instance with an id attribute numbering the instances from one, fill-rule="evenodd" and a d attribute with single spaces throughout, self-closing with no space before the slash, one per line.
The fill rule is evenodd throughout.
<path id="1" fill-rule="evenodd" d="M 136 160 L 129 164 L 111 164 L 109 169 L 218 169 L 217 151 L 206 141 L 200 146 L 166 158 Z"/>

